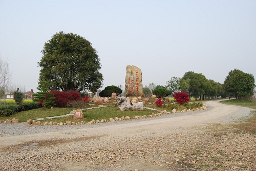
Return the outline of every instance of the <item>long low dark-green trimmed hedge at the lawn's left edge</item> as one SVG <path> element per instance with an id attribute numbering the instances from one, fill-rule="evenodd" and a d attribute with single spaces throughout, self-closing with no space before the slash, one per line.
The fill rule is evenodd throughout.
<path id="1" fill-rule="evenodd" d="M 40 105 L 37 103 L 26 103 L 22 105 L 3 106 L 0 108 L 0 116 L 10 116 L 17 112 L 37 109 L 39 107 Z"/>

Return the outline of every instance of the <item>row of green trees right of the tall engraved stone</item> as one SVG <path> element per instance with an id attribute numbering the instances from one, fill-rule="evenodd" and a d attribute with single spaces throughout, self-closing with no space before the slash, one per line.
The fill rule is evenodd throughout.
<path id="1" fill-rule="evenodd" d="M 172 95 L 175 92 L 187 92 L 189 99 L 205 100 L 219 97 L 234 96 L 242 98 L 253 94 L 255 88 L 254 77 L 239 69 L 231 70 L 226 77 L 224 84 L 207 80 L 204 75 L 188 71 L 182 78 L 172 77 L 165 86 L 150 83 L 144 87 L 144 95 L 156 94 L 159 97 Z"/>

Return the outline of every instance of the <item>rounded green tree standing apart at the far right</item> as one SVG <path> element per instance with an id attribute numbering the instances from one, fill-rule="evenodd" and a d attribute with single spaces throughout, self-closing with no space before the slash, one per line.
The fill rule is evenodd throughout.
<path id="1" fill-rule="evenodd" d="M 254 77 L 239 69 L 231 70 L 224 81 L 224 89 L 237 98 L 251 95 L 255 88 Z"/>

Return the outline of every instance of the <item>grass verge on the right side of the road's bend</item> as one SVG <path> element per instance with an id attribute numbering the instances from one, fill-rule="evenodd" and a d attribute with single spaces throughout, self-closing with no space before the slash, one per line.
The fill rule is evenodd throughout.
<path id="1" fill-rule="evenodd" d="M 229 100 L 229 101 L 221 101 L 220 103 L 227 104 L 227 105 L 237 105 L 248 107 L 251 109 L 256 109 L 256 102 L 251 100 Z M 250 132 L 256 134 L 256 110 L 252 111 L 252 117 L 245 120 L 242 123 L 236 125 L 237 128 L 240 128 L 242 131 Z"/>

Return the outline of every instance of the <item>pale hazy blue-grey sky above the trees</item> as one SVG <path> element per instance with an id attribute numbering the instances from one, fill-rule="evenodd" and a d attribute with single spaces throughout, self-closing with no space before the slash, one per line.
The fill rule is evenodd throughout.
<path id="1" fill-rule="evenodd" d="M 127 65 L 141 69 L 143 86 L 188 71 L 224 83 L 235 68 L 256 79 L 255 0 L 0 0 L 0 56 L 14 85 L 38 91 L 41 51 L 60 31 L 97 50 L 100 89 L 124 89 Z"/>

